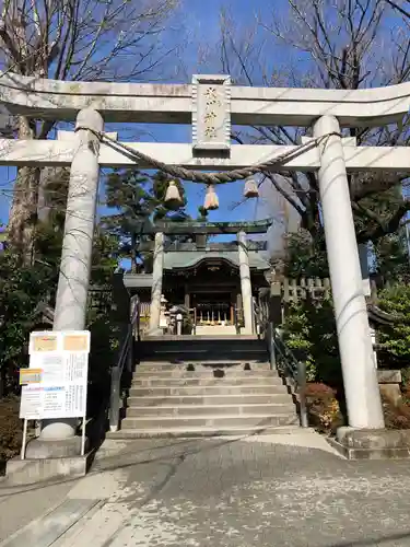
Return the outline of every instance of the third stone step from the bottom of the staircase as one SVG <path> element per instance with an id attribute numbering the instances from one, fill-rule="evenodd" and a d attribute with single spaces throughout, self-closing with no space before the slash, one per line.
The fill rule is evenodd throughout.
<path id="1" fill-rule="evenodd" d="M 173 406 L 134 406 L 127 408 L 127 418 L 145 416 L 254 416 L 254 415 L 292 415 L 295 412 L 295 406 L 292 399 L 288 404 L 253 404 L 253 405 L 173 405 Z"/>

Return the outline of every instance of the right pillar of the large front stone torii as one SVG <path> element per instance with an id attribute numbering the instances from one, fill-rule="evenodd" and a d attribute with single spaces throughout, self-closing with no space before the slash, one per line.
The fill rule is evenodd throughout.
<path id="1" fill-rule="evenodd" d="M 319 143 L 319 193 L 333 296 L 344 393 L 352 428 L 382 429 L 384 417 L 363 292 L 340 125 L 323 116 L 314 125 Z"/>

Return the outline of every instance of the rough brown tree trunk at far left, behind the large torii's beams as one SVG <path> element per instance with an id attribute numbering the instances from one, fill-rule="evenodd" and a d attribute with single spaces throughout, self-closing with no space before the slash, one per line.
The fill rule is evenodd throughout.
<path id="1" fill-rule="evenodd" d="M 25 116 L 19 118 L 19 139 L 35 138 L 34 123 Z M 33 260 L 34 230 L 37 220 L 38 167 L 20 167 L 14 183 L 10 210 L 8 238 L 10 247 L 19 253 L 22 264 Z"/>

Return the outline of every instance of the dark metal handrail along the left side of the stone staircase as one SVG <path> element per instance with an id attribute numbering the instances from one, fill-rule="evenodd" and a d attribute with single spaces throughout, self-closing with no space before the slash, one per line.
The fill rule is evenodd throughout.
<path id="1" fill-rule="evenodd" d="M 119 410 L 121 399 L 121 379 L 127 363 L 127 370 L 133 366 L 133 342 L 140 338 L 140 299 L 138 294 L 131 298 L 131 317 L 127 326 L 127 334 L 119 348 L 118 361 L 112 369 L 112 388 L 109 397 L 109 430 L 118 431 Z M 137 335 L 137 337 L 136 337 Z"/>

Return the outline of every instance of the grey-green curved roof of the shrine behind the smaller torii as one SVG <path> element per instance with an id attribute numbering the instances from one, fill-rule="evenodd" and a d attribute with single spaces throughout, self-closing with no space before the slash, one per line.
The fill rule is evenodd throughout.
<path id="1" fill-rule="evenodd" d="M 249 251 L 249 267 L 257 270 L 268 270 L 270 268 L 266 254 Z M 221 260 L 231 263 L 235 268 L 239 268 L 239 255 L 237 252 L 221 252 L 221 251 L 195 251 L 195 252 L 177 252 L 164 254 L 164 269 L 185 269 L 197 266 L 202 260 Z"/>

